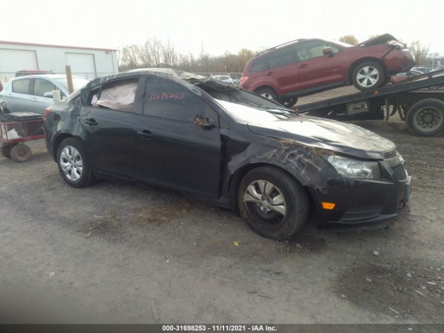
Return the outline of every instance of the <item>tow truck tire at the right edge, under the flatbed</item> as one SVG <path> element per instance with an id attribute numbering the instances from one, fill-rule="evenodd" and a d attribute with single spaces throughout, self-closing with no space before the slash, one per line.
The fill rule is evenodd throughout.
<path id="1" fill-rule="evenodd" d="M 407 127 L 421 137 L 436 137 L 444 133 L 444 102 L 439 99 L 423 99 L 411 105 L 407 111 Z"/>

